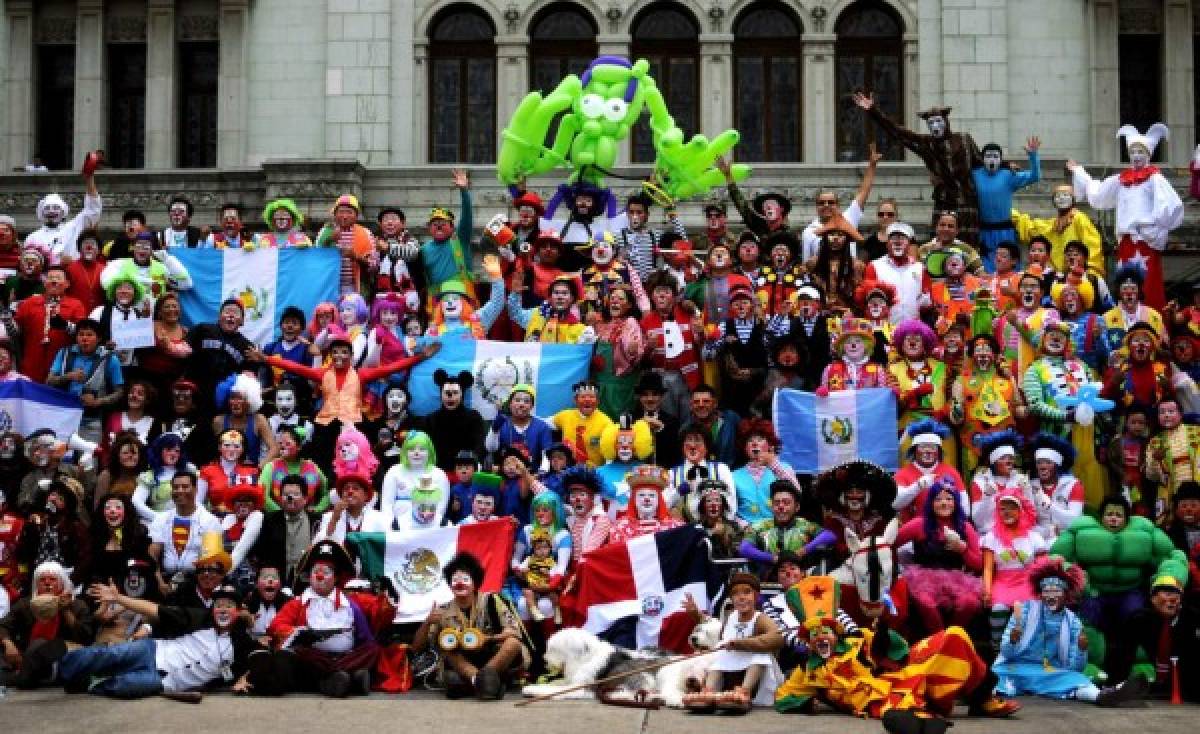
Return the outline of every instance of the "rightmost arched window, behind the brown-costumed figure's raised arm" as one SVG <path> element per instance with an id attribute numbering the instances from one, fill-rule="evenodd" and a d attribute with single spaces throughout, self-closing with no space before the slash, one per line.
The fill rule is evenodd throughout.
<path id="1" fill-rule="evenodd" d="M 877 0 L 860 0 L 846 8 L 834 29 L 838 34 L 838 160 L 866 160 L 868 143 L 888 161 L 904 157 L 894 139 L 875 128 L 854 106 L 856 91 L 875 96 L 880 112 L 904 121 L 904 23 Z"/>

